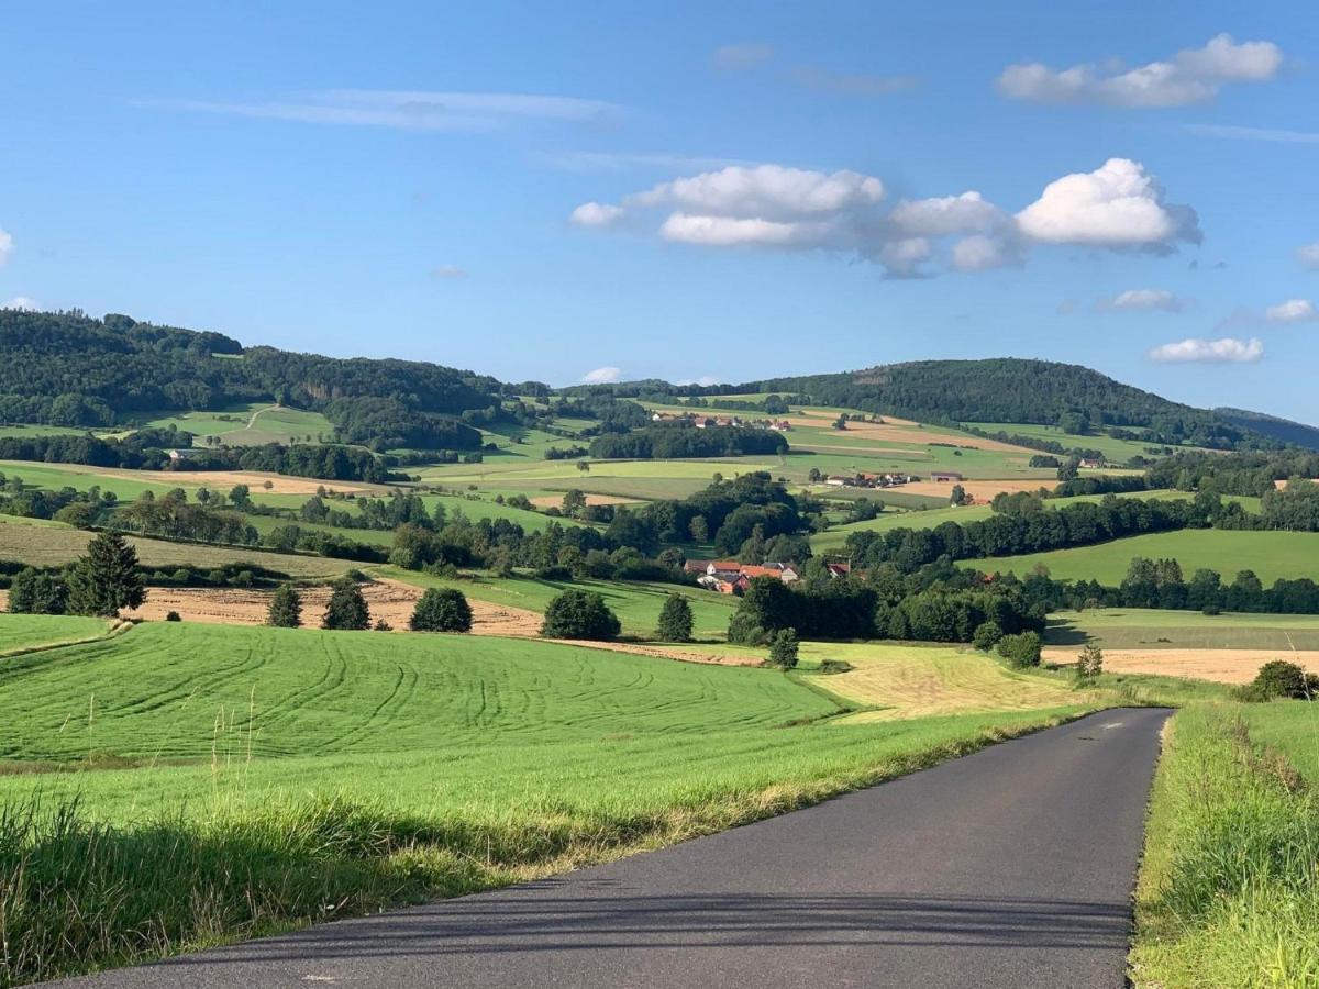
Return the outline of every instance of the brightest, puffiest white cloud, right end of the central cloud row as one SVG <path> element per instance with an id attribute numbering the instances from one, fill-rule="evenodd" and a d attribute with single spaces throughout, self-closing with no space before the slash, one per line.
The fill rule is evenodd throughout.
<path id="1" fill-rule="evenodd" d="M 1195 210 L 1166 204 L 1145 166 L 1129 158 L 1109 158 L 1095 171 L 1050 182 L 1039 199 L 1017 214 L 1017 225 L 1046 244 L 1167 253 L 1179 240 L 1200 241 Z"/>

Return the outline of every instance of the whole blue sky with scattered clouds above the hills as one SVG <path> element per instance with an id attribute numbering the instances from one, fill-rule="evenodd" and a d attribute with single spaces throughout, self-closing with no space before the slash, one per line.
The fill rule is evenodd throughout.
<path id="1" fill-rule="evenodd" d="M 1312 4 L 274 7 L 7 12 L 0 303 L 554 384 L 1037 356 L 1319 421 Z"/>

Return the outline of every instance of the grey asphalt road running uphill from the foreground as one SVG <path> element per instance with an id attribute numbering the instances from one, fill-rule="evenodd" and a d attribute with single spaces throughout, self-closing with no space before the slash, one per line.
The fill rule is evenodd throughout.
<path id="1" fill-rule="evenodd" d="M 1116 989 L 1166 716 L 1108 711 L 611 865 L 61 985 Z"/>

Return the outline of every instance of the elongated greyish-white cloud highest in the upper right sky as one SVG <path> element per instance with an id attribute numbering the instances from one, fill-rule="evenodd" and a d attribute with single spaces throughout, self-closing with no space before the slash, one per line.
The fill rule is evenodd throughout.
<path id="1" fill-rule="evenodd" d="M 1270 41 L 1219 34 L 1200 49 L 1163 62 L 1105 70 L 1078 65 L 1054 70 L 1039 62 L 1010 65 L 997 79 L 1001 94 L 1033 103 L 1099 103 L 1113 107 L 1186 107 L 1213 99 L 1227 83 L 1266 82 L 1282 67 Z"/>

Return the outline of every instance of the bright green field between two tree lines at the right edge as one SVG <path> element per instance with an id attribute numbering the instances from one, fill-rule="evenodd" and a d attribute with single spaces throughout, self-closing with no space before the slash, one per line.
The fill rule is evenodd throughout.
<path id="1" fill-rule="evenodd" d="M 1232 580 L 1240 570 L 1253 570 L 1265 584 L 1279 578 L 1319 580 L 1319 533 L 1187 529 L 1072 550 L 963 560 L 959 566 L 998 574 L 1013 571 L 1018 576 L 1042 566 L 1055 580 L 1095 579 L 1101 584 L 1119 584 L 1133 556 L 1177 559 L 1187 579 L 1203 567 L 1219 571 L 1225 580 Z"/>

